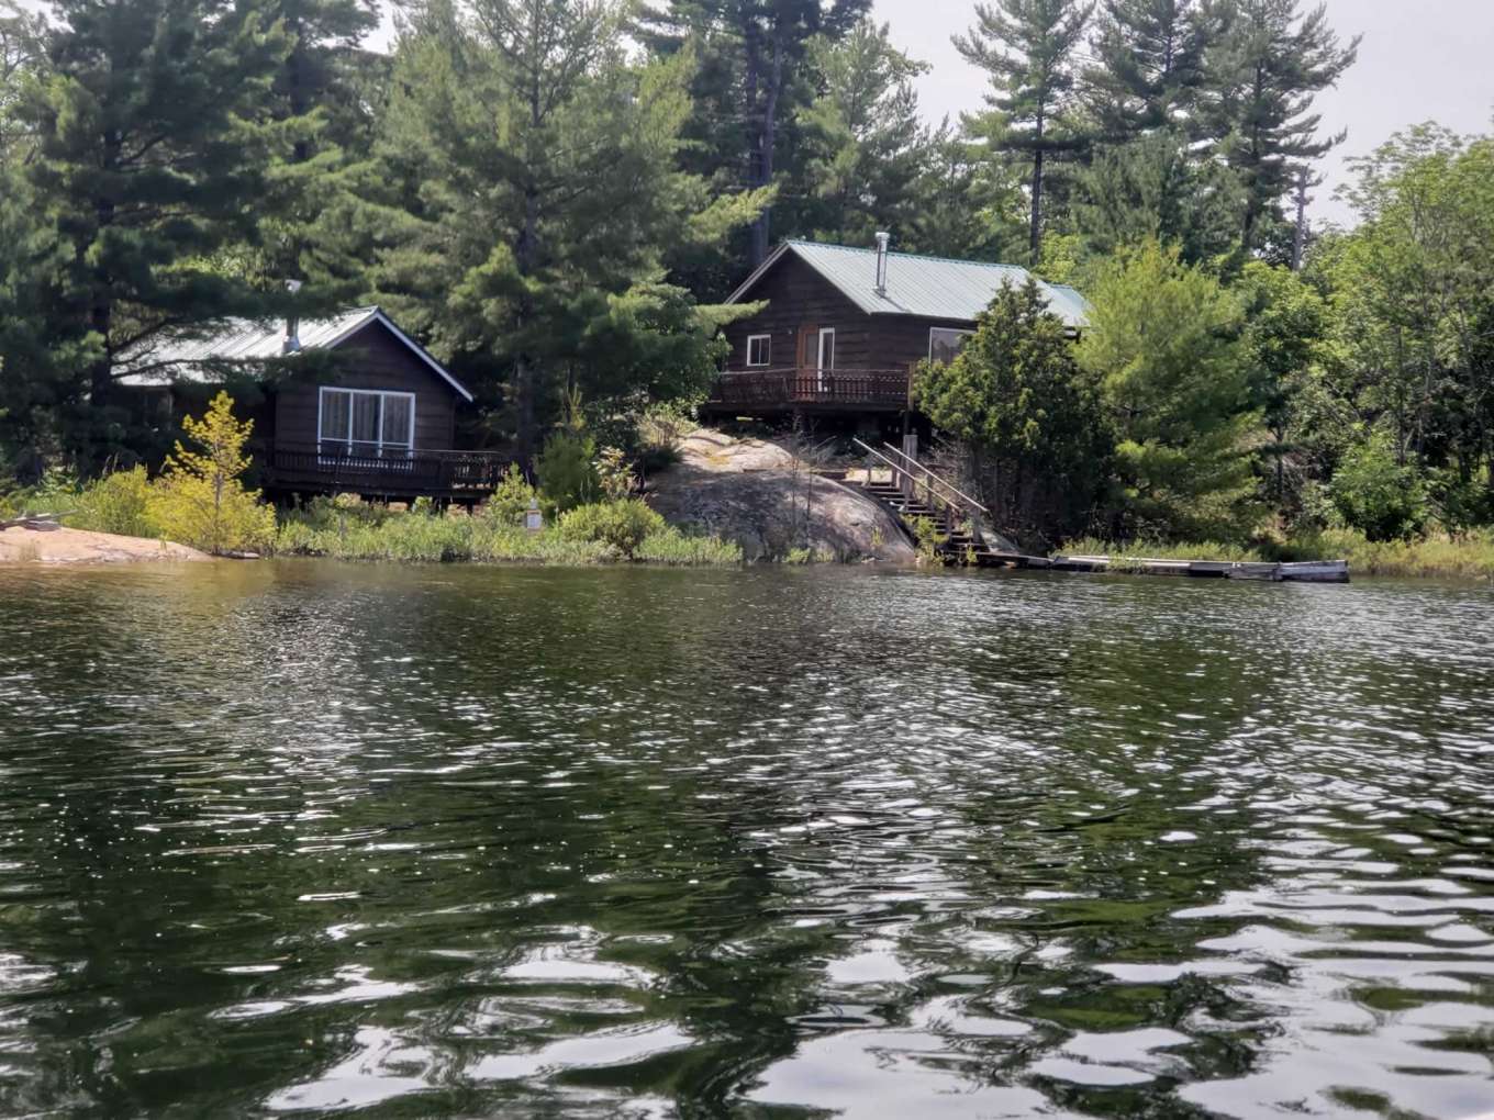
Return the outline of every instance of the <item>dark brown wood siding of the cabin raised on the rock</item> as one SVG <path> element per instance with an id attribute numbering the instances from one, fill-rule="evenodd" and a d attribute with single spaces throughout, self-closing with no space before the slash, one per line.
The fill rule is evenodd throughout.
<path id="1" fill-rule="evenodd" d="M 962 320 L 868 315 L 793 252 L 786 252 L 744 300 L 768 300 L 768 306 L 723 330 L 731 343 L 726 369 L 732 370 L 748 369 L 748 335 L 772 336 L 772 369 L 798 364 L 795 346 L 801 326 L 835 329 L 837 369 L 907 369 L 928 357 L 929 327 L 974 327 Z"/>

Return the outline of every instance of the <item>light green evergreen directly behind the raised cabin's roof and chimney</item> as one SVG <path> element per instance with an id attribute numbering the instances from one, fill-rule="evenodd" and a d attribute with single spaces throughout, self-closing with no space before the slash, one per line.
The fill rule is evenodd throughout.
<path id="1" fill-rule="evenodd" d="M 799 113 L 807 158 L 795 227 L 852 245 L 870 243 L 878 228 L 901 240 L 926 143 L 913 79 L 928 67 L 870 19 L 844 39 L 814 40 L 808 61 L 823 93 Z"/>

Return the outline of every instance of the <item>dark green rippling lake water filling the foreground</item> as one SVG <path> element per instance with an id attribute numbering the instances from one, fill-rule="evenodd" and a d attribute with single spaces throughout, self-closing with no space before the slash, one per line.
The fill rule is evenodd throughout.
<path id="1" fill-rule="evenodd" d="M 1494 1111 L 1494 591 L 0 570 L 0 1114 Z"/>

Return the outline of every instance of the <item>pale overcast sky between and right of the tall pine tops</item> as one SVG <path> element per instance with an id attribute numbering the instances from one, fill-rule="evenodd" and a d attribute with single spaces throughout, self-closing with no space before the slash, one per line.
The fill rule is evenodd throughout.
<path id="1" fill-rule="evenodd" d="M 971 0 L 874 0 L 875 18 L 892 39 L 934 69 L 919 81 L 929 119 L 958 116 L 980 105 L 985 75 L 968 66 L 949 39 L 971 22 Z M 1324 160 L 1313 220 L 1348 221 L 1333 200 L 1345 155 L 1363 155 L 1397 128 L 1434 119 L 1461 133 L 1487 133 L 1494 118 L 1494 0 L 1327 0 L 1342 40 L 1363 34 L 1360 60 L 1316 109 L 1325 133 L 1349 130 Z M 1307 9 L 1307 4 L 1303 4 Z"/>

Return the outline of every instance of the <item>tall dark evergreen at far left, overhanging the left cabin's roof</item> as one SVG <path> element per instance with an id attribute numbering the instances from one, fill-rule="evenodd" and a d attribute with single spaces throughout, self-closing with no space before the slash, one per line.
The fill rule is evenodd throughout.
<path id="1" fill-rule="evenodd" d="M 25 105 L 27 172 L 67 249 L 54 317 L 94 337 L 73 399 L 85 466 L 124 438 L 111 408 L 121 355 L 161 330 L 264 315 L 214 255 L 252 237 L 263 203 L 261 106 L 285 39 L 227 0 L 58 0 L 46 81 Z"/>

